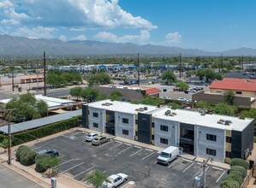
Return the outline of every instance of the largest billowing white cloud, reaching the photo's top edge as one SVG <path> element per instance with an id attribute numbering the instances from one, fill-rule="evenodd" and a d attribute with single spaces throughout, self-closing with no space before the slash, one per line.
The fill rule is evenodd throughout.
<path id="1" fill-rule="evenodd" d="M 7 1 L 9 2 L 9 1 Z M 134 16 L 118 5 L 118 0 L 14 0 L 10 5 L 26 10 L 23 24 L 32 22 L 42 26 L 78 26 L 78 27 L 130 27 L 155 29 L 150 21 Z M 19 15 L 15 13 L 16 15 Z M 30 16 L 28 19 L 28 15 Z M 40 18 L 40 19 L 38 19 Z"/>

